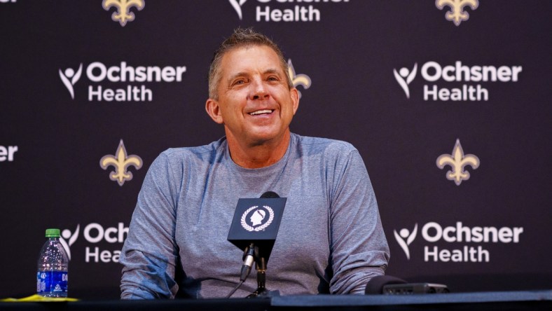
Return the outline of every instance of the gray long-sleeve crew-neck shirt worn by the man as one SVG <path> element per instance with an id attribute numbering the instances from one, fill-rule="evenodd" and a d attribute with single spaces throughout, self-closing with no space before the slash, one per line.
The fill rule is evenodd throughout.
<path id="1" fill-rule="evenodd" d="M 282 295 L 361 293 L 389 259 L 378 205 L 358 151 L 344 141 L 291 134 L 269 167 L 233 163 L 226 139 L 164 151 L 151 165 L 125 240 L 121 298 L 226 296 L 243 251 L 228 242 L 239 198 L 287 198 L 266 272 Z M 233 297 L 257 287 L 247 279 Z"/>

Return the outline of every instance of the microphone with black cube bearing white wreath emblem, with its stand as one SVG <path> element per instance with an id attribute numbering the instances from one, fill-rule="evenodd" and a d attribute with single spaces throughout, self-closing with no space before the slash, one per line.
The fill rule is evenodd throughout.
<path id="1" fill-rule="evenodd" d="M 240 272 L 240 284 L 227 297 L 245 282 L 253 262 L 256 263 L 258 292 L 265 291 L 266 263 L 274 247 L 286 200 L 273 191 L 267 191 L 261 198 L 240 198 L 237 201 L 228 241 L 244 250 L 244 263 Z"/>

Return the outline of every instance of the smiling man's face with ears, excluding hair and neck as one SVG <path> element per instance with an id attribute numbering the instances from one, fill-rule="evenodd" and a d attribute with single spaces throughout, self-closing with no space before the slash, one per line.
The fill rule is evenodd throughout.
<path id="1" fill-rule="evenodd" d="M 227 52 L 221 60 L 217 92 L 218 100 L 207 100 L 207 113 L 224 124 L 229 141 L 255 146 L 289 134 L 298 92 L 289 90 L 280 60 L 268 46 Z"/>

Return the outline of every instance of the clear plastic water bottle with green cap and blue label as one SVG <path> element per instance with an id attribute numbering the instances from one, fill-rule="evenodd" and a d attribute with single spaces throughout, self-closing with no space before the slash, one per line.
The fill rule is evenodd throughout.
<path id="1" fill-rule="evenodd" d="M 67 297 L 69 258 L 60 243 L 60 229 L 47 229 L 46 239 L 36 272 L 36 293 L 46 297 Z"/>

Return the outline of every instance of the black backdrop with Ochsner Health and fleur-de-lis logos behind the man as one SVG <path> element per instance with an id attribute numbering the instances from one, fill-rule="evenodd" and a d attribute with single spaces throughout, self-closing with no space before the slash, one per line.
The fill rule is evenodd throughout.
<path id="1" fill-rule="evenodd" d="M 0 296 L 34 293 L 44 230 L 60 228 L 70 296 L 118 298 L 149 165 L 223 136 L 205 113 L 207 69 L 250 26 L 282 46 L 301 92 L 291 130 L 358 148 L 389 275 L 455 292 L 551 288 L 551 12 L 550 1 L 1 0 Z"/>

